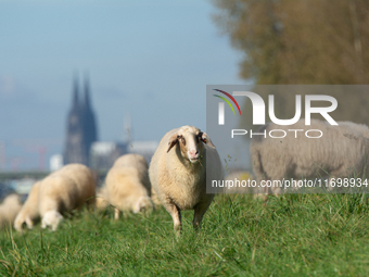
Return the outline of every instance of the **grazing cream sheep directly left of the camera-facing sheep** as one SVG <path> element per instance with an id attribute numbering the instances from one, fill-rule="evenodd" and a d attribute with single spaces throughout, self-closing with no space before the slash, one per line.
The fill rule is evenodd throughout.
<path id="1" fill-rule="evenodd" d="M 115 219 L 119 218 L 120 211 L 138 213 L 153 209 L 148 163 L 141 155 L 126 154 L 118 158 L 107 172 L 105 186 L 109 202 L 115 207 Z"/>

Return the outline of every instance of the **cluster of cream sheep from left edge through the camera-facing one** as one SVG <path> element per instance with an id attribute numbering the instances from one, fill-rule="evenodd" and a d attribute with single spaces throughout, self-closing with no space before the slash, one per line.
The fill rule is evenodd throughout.
<path id="1" fill-rule="evenodd" d="M 175 230 L 181 229 L 183 210 L 194 210 L 193 227 L 199 228 L 214 199 L 214 194 L 206 193 L 206 174 L 222 178 L 217 150 L 205 133 L 182 126 L 163 137 L 150 168 L 141 155 L 123 155 L 107 172 L 105 186 L 96 192 L 96 180 L 87 166 L 65 165 L 37 181 L 23 206 L 17 196 L 9 196 L 0 205 L 0 224 L 11 224 L 22 231 L 24 225 L 31 229 L 40 219 L 41 228 L 56 230 L 63 215 L 85 204 L 96 209 L 112 205 L 116 219 L 120 211 L 150 212 L 163 204 Z"/>

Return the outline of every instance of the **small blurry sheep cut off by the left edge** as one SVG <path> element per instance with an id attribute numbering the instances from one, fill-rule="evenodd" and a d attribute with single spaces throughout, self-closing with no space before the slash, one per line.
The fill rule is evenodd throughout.
<path id="1" fill-rule="evenodd" d="M 21 209 L 22 204 L 20 201 L 20 196 L 8 196 L 0 205 L 0 229 L 2 229 L 2 227 L 5 225 L 12 226 L 15 216 L 21 211 Z"/>

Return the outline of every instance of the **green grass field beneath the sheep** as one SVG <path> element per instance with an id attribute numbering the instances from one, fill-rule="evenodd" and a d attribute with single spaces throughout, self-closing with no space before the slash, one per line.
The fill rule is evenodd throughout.
<path id="1" fill-rule="evenodd" d="M 0 275 L 369 276 L 368 215 L 364 194 L 217 196 L 202 230 L 188 211 L 177 238 L 163 207 L 118 222 L 84 211 L 55 232 L 2 230 Z"/>

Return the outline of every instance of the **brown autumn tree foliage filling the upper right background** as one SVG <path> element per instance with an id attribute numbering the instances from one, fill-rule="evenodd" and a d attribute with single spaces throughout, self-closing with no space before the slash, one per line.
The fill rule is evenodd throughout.
<path id="1" fill-rule="evenodd" d="M 369 1 L 214 0 L 217 25 L 244 53 L 240 76 L 256 85 L 369 84 Z M 267 102 L 268 89 L 258 93 Z M 359 89 L 360 90 L 360 89 Z M 361 89 L 362 90 L 362 89 Z M 303 95 L 298 92 L 298 95 Z M 329 93 L 328 93 L 329 95 Z M 293 91 L 275 91 L 280 118 L 294 115 Z M 369 124 L 369 95 L 336 91 L 334 118 Z M 321 103 L 323 104 L 323 103 Z M 242 125 L 251 126 L 251 103 Z"/>

